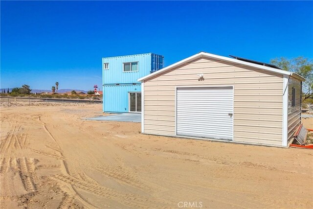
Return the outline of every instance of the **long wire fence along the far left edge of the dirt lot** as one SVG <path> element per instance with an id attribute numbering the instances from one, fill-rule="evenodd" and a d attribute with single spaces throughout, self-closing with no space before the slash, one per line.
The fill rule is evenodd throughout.
<path id="1" fill-rule="evenodd" d="M 34 97 L 0 97 L 0 106 L 68 106 L 76 104 L 102 104 L 102 99 L 89 97 L 86 99 L 67 99 L 67 98 L 34 98 Z"/>

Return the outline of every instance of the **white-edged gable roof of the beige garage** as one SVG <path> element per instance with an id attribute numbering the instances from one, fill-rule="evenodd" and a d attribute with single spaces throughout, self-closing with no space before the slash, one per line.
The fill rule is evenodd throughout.
<path id="1" fill-rule="evenodd" d="M 183 59 L 177 63 L 174 63 L 166 68 L 163 68 L 161 70 L 157 70 L 156 72 L 154 73 L 151 73 L 149 75 L 146 75 L 142 78 L 139 78 L 138 81 L 144 81 L 148 78 L 151 78 L 151 77 L 154 77 L 162 72 L 165 72 L 167 70 L 172 70 L 173 68 L 176 68 L 178 66 L 181 66 L 181 65 L 184 65 L 184 64 L 187 64 L 193 60 L 196 60 L 196 59 L 199 59 L 199 58 L 211 58 L 211 59 L 216 59 L 216 60 L 223 60 L 223 61 L 227 61 L 227 62 L 230 62 L 230 63 L 236 63 L 236 64 L 240 64 L 240 65 L 243 65 L 243 66 L 248 66 L 248 67 L 252 67 L 252 68 L 255 68 L 255 69 L 260 69 L 260 70 L 267 70 L 267 71 L 270 71 L 270 72 L 275 72 L 275 73 L 278 73 L 278 74 L 282 74 L 282 75 L 290 75 L 292 77 L 295 77 L 296 79 L 299 79 L 301 81 L 305 81 L 305 78 L 301 77 L 300 75 L 298 75 L 297 73 L 294 73 L 294 72 L 290 72 L 290 71 L 287 71 L 287 70 L 281 70 L 281 69 L 277 69 L 277 68 L 273 68 L 273 67 L 268 67 L 266 65 L 260 65 L 260 64 L 255 64 L 255 63 L 252 63 L 252 62 L 248 62 L 248 61 L 243 61 L 243 60 L 239 60 L 239 59 L 233 59 L 233 58 L 229 58 L 229 57 L 224 57 L 224 56 L 220 56 L 220 55 L 216 55 L 216 54 L 210 54 L 210 53 L 207 53 L 207 52 L 199 52 L 198 54 L 195 54 L 191 57 L 188 57 L 186 59 Z M 257 62 L 257 61 L 255 61 Z M 260 63 L 260 62 L 259 62 Z"/>

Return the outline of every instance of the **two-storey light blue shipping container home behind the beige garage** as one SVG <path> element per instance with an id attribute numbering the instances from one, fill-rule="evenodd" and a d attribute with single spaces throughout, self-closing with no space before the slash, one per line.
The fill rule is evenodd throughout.
<path id="1" fill-rule="evenodd" d="M 103 112 L 141 112 L 138 78 L 164 66 L 164 56 L 153 53 L 102 58 Z"/>

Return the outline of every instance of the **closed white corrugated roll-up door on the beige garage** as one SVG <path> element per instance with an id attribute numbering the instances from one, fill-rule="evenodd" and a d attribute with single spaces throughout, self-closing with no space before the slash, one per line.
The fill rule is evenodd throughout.
<path id="1" fill-rule="evenodd" d="M 233 88 L 177 88 L 176 134 L 233 140 Z"/>

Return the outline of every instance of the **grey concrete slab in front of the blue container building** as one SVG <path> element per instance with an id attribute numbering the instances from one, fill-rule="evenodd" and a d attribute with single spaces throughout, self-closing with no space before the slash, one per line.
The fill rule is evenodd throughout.
<path id="1" fill-rule="evenodd" d="M 84 118 L 85 120 L 107 120 L 107 121 L 122 121 L 122 122 L 141 122 L 140 113 L 122 113 L 112 116 L 100 116 Z"/>

